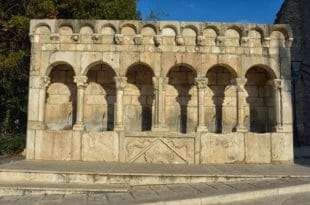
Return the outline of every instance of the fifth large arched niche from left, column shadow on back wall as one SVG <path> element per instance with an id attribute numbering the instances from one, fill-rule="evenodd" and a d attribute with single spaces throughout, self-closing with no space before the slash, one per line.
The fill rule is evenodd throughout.
<path id="1" fill-rule="evenodd" d="M 205 99 L 208 130 L 214 133 L 232 132 L 236 124 L 236 89 L 232 80 L 237 73 L 227 65 L 211 67 L 208 78 L 209 91 Z"/>

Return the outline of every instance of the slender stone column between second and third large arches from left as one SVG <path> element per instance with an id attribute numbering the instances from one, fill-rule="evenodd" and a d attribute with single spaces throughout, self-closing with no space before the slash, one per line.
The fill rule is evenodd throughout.
<path id="1" fill-rule="evenodd" d="M 114 77 L 116 84 L 116 109 L 115 109 L 115 131 L 124 131 L 124 105 L 123 105 L 123 96 L 124 88 L 127 85 L 126 77 Z"/>

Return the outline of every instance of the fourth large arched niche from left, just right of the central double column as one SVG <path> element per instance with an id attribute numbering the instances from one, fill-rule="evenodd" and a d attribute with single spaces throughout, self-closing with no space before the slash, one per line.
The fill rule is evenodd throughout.
<path id="1" fill-rule="evenodd" d="M 169 129 L 183 134 L 194 132 L 197 125 L 197 94 L 194 86 L 197 72 L 191 66 L 178 64 L 170 68 L 167 77 L 166 118 Z"/>

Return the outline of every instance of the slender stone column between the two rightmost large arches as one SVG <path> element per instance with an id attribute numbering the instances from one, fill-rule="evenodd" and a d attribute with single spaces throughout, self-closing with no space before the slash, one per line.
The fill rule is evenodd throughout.
<path id="1" fill-rule="evenodd" d="M 237 100 L 237 123 L 236 123 L 236 132 L 247 132 L 246 127 L 244 126 L 244 102 L 246 91 L 244 86 L 246 84 L 246 79 L 236 78 L 232 80 L 232 83 L 236 86 L 236 100 Z"/>

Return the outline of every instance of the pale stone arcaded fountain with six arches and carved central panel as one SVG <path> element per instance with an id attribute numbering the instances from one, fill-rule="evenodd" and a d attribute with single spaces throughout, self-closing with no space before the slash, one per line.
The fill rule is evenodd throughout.
<path id="1" fill-rule="evenodd" d="M 32 20 L 27 159 L 293 161 L 287 25 Z"/>

